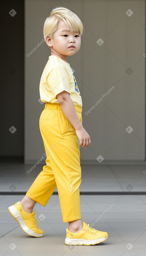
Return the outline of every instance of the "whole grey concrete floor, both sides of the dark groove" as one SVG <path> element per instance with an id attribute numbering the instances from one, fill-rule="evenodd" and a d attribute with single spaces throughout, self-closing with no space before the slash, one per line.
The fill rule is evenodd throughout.
<path id="1" fill-rule="evenodd" d="M 7 167 L 1 164 L 0 256 L 146 255 L 145 166 L 110 165 L 100 166 L 100 170 L 99 166 L 82 166 L 82 221 L 91 225 L 100 217 L 93 227 L 109 235 L 106 241 L 92 246 L 67 246 L 64 243 L 68 222 L 63 223 L 57 194 L 51 196 L 45 207 L 38 203 L 34 207 L 40 222 L 37 222 L 38 227 L 44 230 L 43 237 L 27 235 L 11 217 L 8 206 L 21 201 L 40 169 L 26 175 L 28 166 L 24 164 L 7 164 Z M 85 191 L 93 195 L 85 195 Z M 101 195 L 104 191 L 107 194 Z M 112 191 L 114 195 L 109 194 Z M 125 195 L 125 191 L 129 194 Z M 110 207 L 112 203 L 113 207 Z M 45 216 L 44 220 L 39 219 L 41 213 Z"/>

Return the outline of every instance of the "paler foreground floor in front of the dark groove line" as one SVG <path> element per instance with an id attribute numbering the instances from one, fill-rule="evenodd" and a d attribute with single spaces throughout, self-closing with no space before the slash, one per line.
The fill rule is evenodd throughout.
<path id="1" fill-rule="evenodd" d="M 92 246 L 67 246 L 64 243 L 68 222 L 62 221 L 58 195 L 52 195 L 45 207 L 38 203 L 34 207 L 38 220 L 41 213 L 46 217 L 37 223 L 44 230 L 44 236 L 27 235 L 7 210 L 8 206 L 20 201 L 21 196 L 0 196 L 1 256 L 146 255 L 145 195 L 80 195 L 82 221 L 91 225 L 100 217 L 93 227 L 109 235 L 106 241 Z M 112 203 L 113 207 L 109 208 Z"/>

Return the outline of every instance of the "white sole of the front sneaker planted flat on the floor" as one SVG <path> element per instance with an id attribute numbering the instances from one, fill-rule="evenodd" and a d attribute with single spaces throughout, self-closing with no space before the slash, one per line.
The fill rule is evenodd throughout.
<path id="1" fill-rule="evenodd" d="M 101 243 L 103 241 L 105 241 L 106 239 L 108 238 L 108 234 L 105 237 L 103 238 L 98 238 L 98 239 L 95 239 L 95 240 L 85 240 L 85 239 L 70 239 L 70 238 L 67 238 L 65 239 L 65 244 L 67 245 L 93 245 L 93 244 L 97 244 L 97 243 Z"/>

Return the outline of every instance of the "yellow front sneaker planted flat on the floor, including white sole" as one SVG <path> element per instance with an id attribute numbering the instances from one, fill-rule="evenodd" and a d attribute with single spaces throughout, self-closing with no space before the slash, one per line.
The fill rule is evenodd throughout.
<path id="1" fill-rule="evenodd" d="M 83 228 L 79 232 L 71 232 L 68 228 L 66 229 L 67 236 L 65 243 L 67 245 L 90 245 L 97 244 L 105 241 L 108 238 L 108 233 L 99 231 L 92 227 L 89 227 L 89 224 L 83 222 Z"/>

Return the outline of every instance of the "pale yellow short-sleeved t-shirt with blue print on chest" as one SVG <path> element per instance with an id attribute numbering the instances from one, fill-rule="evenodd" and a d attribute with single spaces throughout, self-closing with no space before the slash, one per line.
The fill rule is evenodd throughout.
<path id="1" fill-rule="evenodd" d="M 56 95 L 67 91 L 74 105 L 82 107 L 82 97 L 70 64 L 56 55 L 49 56 L 41 75 L 39 91 L 40 100 L 50 103 L 59 103 Z"/>

